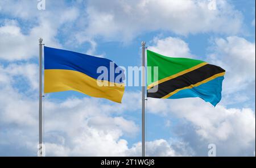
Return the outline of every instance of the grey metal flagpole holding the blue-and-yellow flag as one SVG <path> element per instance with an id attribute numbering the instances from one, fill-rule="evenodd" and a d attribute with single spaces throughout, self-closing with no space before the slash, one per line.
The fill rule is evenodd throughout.
<path id="1" fill-rule="evenodd" d="M 39 157 L 43 157 L 43 82 L 42 82 L 42 60 L 43 60 L 43 39 L 39 39 Z"/>

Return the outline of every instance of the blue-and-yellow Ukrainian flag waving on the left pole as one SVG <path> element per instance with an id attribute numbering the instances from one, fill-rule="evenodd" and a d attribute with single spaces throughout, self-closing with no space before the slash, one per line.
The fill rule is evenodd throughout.
<path id="1" fill-rule="evenodd" d="M 123 71 L 115 73 L 117 68 L 106 58 L 44 47 L 44 93 L 74 90 L 121 103 L 125 86 Z M 100 77 L 102 70 L 107 78 Z"/>

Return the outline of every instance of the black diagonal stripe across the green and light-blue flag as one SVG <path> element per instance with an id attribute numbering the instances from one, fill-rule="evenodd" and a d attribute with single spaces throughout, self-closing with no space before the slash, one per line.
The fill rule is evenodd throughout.
<path id="1" fill-rule="evenodd" d="M 225 72 L 225 70 L 219 66 L 207 64 L 198 69 L 192 70 L 191 72 L 180 75 L 179 77 L 160 83 L 158 85 L 158 91 L 156 93 L 150 93 L 148 90 L 147 96 L 150 98 L 162 98 L 163 96 L 172 93 L 176 89 L 195 85 L 204 79 L 222 72 Z"/>

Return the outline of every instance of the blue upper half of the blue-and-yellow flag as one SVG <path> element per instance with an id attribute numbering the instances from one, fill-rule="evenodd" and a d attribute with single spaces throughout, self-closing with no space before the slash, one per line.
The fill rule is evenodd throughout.
<path id="1" fill-rule="evenodd" d="M 44 47 L 44 69 L 75 70 L 94 79 L 98 79 L 102 70 L 108 70 L 108 81 L 116 83 L 123 83 L 125 77 L 124 70 L 106 58 L 49 47 Z M 118 75 L 123 77 L 115 81 Z"/>

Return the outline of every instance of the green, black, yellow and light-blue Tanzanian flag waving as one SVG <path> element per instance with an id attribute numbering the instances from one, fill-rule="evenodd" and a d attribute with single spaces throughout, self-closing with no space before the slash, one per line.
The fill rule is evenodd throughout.
<path id="1" fill-rule="evenodd" d="M 199 97 L 213 106 L 221 100 L 225 70 L 219 66 L 189 58 L 166 57 L 149 50 L 147 50 L 147 66 L 158 66 L 158 73 L 154 71 L 147 73 L 148 97 L 162 99 Z M 154 75 L 158 75 L 158 78 L 154 79 Z"/>

